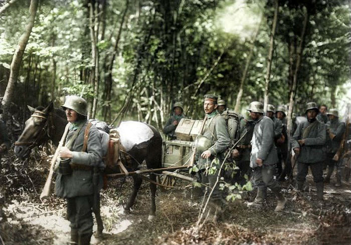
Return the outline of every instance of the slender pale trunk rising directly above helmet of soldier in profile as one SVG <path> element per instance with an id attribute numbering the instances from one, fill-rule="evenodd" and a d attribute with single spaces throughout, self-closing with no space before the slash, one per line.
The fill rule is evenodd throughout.
<path id="1" fill-rule="evenodd" d="M 266 73 L 266 84 L 264 87 L 264 108 L 267 109 L 268 105 L 268 92 L 269 92 L 269 83 L 271 76 L 271 67 L 272 67 L 272 57 L 273 57 L 273 46 L 274 46 L 274 35 L 277 27 L 277 19 L 278 19 L 278 0 L 274 1 L 274 19 L 272 24 L 272 33 L 269 41 L 269 52 L 268 52 L 268 60 L 267 60 L 267 73 Z"/>

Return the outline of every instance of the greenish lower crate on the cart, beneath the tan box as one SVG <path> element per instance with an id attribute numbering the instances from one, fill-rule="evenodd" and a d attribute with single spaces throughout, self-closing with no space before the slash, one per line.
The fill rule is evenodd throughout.
<path id="1" fill-rule="evenodd" d="M 193 142 L 182 140 L 169 140 L 163 143 L 163 167 L 182 166 L 189 164 L 192 156 Z"/>

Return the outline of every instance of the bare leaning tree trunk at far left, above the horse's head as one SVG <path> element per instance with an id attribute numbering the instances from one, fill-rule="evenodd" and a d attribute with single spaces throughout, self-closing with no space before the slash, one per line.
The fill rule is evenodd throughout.
<path id="1" fill-rule="evenodd" d="M 38 9 L 38 2 L 39 2 L 38 0 L 31 0 L 31 5 L 29 7 L 29 13 L 30 13 L 29 21 L 26 26 L 25 32 L 22 34 L 22 36 L 19 39 L 18 46 L 16 48 L 14 57 L 11 62 L 10 79 L 9 79 L 8 86 L 6 87 L 4 99 L 2 102 L 5 119 L 7 119 L 10 116 L 8 114 L 9 114 L 10 104 L 13 101 L 14 85 L 18 79 L 23 54 L 25 52 L 29 36 L 31 35 L 32 28 L 34 26 L 35 16 Z"/>

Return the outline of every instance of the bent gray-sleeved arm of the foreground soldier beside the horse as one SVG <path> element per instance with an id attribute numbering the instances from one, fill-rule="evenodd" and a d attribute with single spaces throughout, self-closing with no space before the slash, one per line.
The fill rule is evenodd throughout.
<path id="1" fill-rule="evenodd" d="M 92 126 L 88 135 L 87 152 L 72 151 L 72 163 L 95 167 L 99 166 L 101 161 L 102 145 L 100 142 L 99 131 Z"/>

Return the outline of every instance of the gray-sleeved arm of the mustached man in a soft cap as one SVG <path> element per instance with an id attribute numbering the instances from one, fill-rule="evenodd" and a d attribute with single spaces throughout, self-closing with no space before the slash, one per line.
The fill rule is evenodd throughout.
<path id="1" fill-rule="evenodd" d="M 212 155 L 217 155 L 220 152 L 224 152 L 230 145 L 227 124 L 226 120 L 223 117 L 217 118 L 215 128 L 217 134 L 217 142 L 209 149 Z"/>

